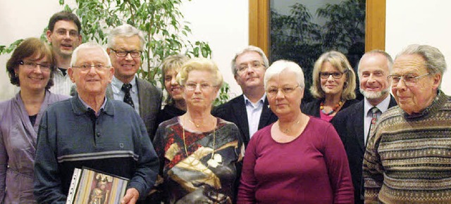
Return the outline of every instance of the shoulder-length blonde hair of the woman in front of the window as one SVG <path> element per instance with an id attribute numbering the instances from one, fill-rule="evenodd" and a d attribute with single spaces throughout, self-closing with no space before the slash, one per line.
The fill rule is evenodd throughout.
<path id="1" fill-rule="evenodd" d="M 321 72 L 321 67 L 325 62 L 332 64 L 338 71 L 345 73 L 346 81 L 343 85 L 341 98 L 345 100 L 354 99 L 356 97 L 354 92 L 356 86 L 355 73 L 354 70 L 352 70 L 350 62 L 347 60 L 346 56 L 338 51 L 323 53 L 318 60 L 316 60 L 313 72 L 311 73 L 311 77 L 313 79 L 313 83 L 310 87 L 311 95 L 318 99 L 326 98 L 326 94 L 323 89 L 321 89 L 321 78 L 319 77 L 319 72 Z"/>

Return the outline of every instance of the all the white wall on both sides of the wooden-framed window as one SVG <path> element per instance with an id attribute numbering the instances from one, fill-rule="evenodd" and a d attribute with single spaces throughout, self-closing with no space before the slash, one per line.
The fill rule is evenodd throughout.
<path id="1" fill-rule="evenodd" d="M 67 1 L 67 0 L 66 0 Z M 62 9 L 57 0 L 0 0 L 0 44 L 14 39 L 39 37 L 53 13 Z M 408 44 L 438 47 L 451 65 L 451 1 L 387 0 L 385 48 L 393 57 Z M 233 96 L 241 94 L 230 72 L 235 52 L 249 44 L 249 2 L 243 0 L 185 1 L 180 8 L 191 23 L 190 40 L 209 42 Z M 6 75 L 6 60 L 0 56 L 0 101 L 13 97 L 16 88 Z M 442 89 L 451 95 L 451 71 L 445 72 Z"/>

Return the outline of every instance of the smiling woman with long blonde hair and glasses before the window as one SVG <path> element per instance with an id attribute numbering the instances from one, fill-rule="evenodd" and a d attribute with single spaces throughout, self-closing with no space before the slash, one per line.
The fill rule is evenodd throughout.
<path id="1" fill-rule="evenodd" d="M 330 121 L 338 111 L 359 102 L 354 70 L 342 53 L 323 53 L 315 62 L 312 78 L 310 92 L 316 99 L 302 106 L 302 113 Z"/>

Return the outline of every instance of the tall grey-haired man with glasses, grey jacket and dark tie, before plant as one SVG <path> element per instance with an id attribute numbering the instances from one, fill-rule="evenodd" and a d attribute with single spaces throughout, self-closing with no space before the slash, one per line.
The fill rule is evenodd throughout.
<path id="1" fill-rule="evenodd" d="M 136 76 L 141 67 L 143 47 L 144 37 L 135 27 L 124 24 L 111 30 L 106 52 L 115 71 L 111 85 L 106 89 L 106 96 L 124 101 L 135 108 L 152 141 L 162 95 L 161 89 Z"/>

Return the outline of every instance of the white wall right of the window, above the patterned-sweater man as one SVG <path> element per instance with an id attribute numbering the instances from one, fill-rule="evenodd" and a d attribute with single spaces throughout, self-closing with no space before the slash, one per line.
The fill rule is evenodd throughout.
<path id="1" fill-rule="evenodd" d="M 409 44 L 428 44 L 443 53 L 442 89 L 451 95 L 451 1 L 387 0 L 385 50 L 395 58 Z"/>

